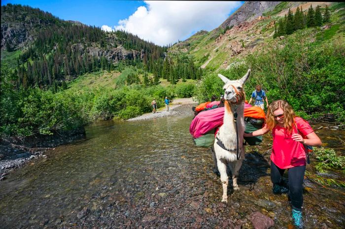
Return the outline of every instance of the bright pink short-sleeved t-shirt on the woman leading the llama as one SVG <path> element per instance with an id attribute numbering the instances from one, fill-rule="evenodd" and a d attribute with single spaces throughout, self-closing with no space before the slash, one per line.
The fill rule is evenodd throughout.
<path id="1" fill-rule="evenodd" d="M 306 135 L 313 132 L 309 123 L 300 117 L 295 117 L 295 122 L 299 134 L 305 138 Z M 291 136 L 298 133 L 296 127 L 293 127 L 292 133 L 286 133 L 285 128 L 276 126 L 272 130 L 273 147 L 271 161 L 281 169 L 306 165 L 306 153 L 301 142 L 294 141 Z"/>

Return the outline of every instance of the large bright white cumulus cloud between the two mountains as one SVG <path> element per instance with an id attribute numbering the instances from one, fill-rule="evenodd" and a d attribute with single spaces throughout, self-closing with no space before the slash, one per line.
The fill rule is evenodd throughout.
<path id="1" fill-rule="evenodd" d="M 125 30 L 158 45 L 187 38 L 200 30 L 211 31 L 223 23 L 241 1 L 145 1 L 115 30 Z M 113 30 L 102 26 L 104 31 Z"/>

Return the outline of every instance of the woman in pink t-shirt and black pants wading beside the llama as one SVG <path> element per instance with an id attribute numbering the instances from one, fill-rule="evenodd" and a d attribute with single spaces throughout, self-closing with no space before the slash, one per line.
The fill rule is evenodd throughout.
<path id="1" fill-rule="evenodd" d="M 292 219 L 296 228 L 303 228 L 303 179 L 306 171 L 308 146 L 320 146 L 321 140 L 308 122 L 297 117 L 284 100 L 272 102 L 267 111 L 266 125 L 257 131 L 244 133 L 244 137 L 259 136 L 272 131 L 271 180 L 273 193 L 288 193 L 292 206 Z M 285 169 L 288 186 L 282 180 Z"/>

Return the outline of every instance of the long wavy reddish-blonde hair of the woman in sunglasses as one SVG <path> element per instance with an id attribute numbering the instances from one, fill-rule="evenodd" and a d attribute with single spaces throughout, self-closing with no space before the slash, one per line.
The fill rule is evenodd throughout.
<path id="1" fill-rule="evenodd" d="M 266 118 L 267 128 L 272 131 L 272 129 L 278 123 L 275 120 L 275 116 L 273 112 L 279 108 L 284 111 L 284 128 L 287 130 L 288 133 L 292 133 L 293 126 L 295 125 L 294 118 L 296 115 L 291 105 L 284 100 L 273 101 L 268 107 L 267 118 Z"/>

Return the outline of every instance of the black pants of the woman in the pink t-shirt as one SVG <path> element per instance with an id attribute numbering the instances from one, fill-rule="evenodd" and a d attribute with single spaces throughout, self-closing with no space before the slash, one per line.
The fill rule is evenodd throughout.
<path id="1" fill-rule="evenodd" d="M 271 161 L 271 180 L 273 185 L 282 184 L 282 176 L 285 169 L 281 169 Z M 304 173 L 306 171 L 306 165 L 292 167 L 287 169 L 287 175 L 289 176 L 289 196 L 291 205 L 294 209 L 301 210 L 303 205 L 303 180 Z"/>

